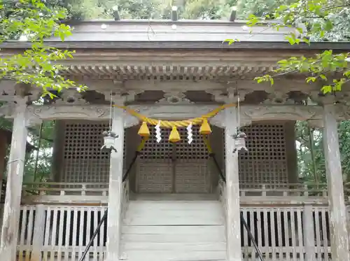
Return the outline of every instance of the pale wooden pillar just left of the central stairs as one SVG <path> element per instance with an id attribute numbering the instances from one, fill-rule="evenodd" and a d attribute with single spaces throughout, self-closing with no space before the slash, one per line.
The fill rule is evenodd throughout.
<path id="1" fill-rule="evenodd" d="M 123 147 L 124 147 L 124 119 L 123 110 L 114 108 L 112 130 L 118 135 L 115 146 L 117 152 L 111 152 L 109 169 L 109 213 L 107 224 L 107 260 L 119 260 L 119 246 L 122 220 L 123 200 Z"/>

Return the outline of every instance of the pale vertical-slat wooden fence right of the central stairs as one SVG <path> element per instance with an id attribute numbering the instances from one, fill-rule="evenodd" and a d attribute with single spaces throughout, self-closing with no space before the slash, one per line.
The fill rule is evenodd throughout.
<path id="1" fill-rule="evenodd" d="M 330 260 L 327 206 L 243 206 L 241 211 L 265 260 Z M 244 229 L 241 244 L 243 260 L 257 260 Z"/>

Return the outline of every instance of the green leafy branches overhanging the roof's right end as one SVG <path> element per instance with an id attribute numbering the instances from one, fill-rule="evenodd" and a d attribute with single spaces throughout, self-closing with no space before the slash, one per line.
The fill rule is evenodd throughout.
<path id="1" fill-rule="evenodd" d="M 258 24 L 271 18 L 279 20 L 279 23 L 274 25 L 277 29 L 280 26 L 293 26 L 297 29 L 297 33 L 286 36 L 292 45 L 312 44 L 313 41 L 349 41 L 349 1 L 297 1 L 281 5 L 263 18 L 251 15 L 248 24 Z M 290 57 L 279 61 L 279 68 L 273 73 L 256 79 L 258 82 L 269 81 L 273 84 L 273 79 L 281 73 L 307 73 L 307 83 L 317 81 L 323 84 L 324 93 L 335 92 L 342 90 L 344 83 L 350 80 L 349 56 L 349 52 L 335 53 L 325 50 L 314 57 Z M 338 75 L 334 77 L 334 73 Z"/>

